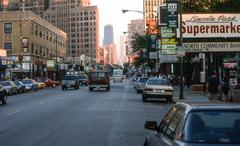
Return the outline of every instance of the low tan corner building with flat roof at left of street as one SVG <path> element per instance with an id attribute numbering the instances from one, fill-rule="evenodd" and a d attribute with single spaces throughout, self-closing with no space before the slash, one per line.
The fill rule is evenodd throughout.
<path id="1" fill-rule="evenodd" d="M 10 24 L 11 28 L 7 29 L 6 24 Z M 47 60 L 56 56 L 66 57 L 66 33 L 31 11 L 0 12 L 0 28 L 3 36 L 0 48 L 7 49 L 8 56 L 18 63 L 21 61 L 19 56 L 23 56 L 23 62 L 25 57 L 29 63 L 40 60 L 45 65 Z M 28 40 L 28 47 L 23 45 L 24 40 Z M 12 49 L 6 48 L 6 44 Z"/>

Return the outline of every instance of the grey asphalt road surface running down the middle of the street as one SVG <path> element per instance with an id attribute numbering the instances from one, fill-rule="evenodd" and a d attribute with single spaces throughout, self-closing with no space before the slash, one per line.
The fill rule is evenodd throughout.
<path id="1" fill-rule="evenodd" d="M 89 92 L 47 88 L 0 105 L 0 146 L 142 146 L 147 120 L 159 121 L 171 104 L 142 103 L 130 81 Z"/>

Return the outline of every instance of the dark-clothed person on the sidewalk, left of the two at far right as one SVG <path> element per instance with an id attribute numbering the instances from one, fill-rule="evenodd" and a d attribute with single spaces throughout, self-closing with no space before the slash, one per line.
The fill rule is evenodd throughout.
<path id="1" fill-rule="evenodd" d="M 209 101 L 216 102 L 218 98 L 218 93 L 220 89 L 219 79 L 216 77 L 216 73 L 212 73 L 212 76 L 208 79 L 207 89 L 209 94 Z"/>

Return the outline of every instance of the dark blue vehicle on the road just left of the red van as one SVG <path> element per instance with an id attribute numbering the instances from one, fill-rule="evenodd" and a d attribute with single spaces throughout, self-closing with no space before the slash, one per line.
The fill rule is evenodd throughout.
<path id="1" fill-rule="evenodd" d="M 66 75 L 62 80 L 62 90 L 68 88 L 79 89 L 79 81 L 77 76 L 75 75 Z"/>

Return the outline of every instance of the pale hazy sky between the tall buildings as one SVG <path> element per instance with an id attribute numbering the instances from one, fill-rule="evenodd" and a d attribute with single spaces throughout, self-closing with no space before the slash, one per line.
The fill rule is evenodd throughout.
<path id="1" fill-rule="evenodd" d="M 142 14 L 136 12 L 122 13 L 122 9 L 142 11 L 143 0 L 91 0 L 91 5 L 97 5 L 99 9 L 100 44 L 104 25 L 113 25 L 114 40 L 118 43 L 120 35 L 127 31 L 130 20 L 143 18 Z"/>

